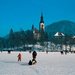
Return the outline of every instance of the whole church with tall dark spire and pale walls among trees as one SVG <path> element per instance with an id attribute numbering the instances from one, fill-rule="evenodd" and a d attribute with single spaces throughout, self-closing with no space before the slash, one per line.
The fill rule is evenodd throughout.
<path id="1" fill-rule="evenodd" d="M 41 14 L 41 17 L 40 17 L 39 29 L 35 28 L 34 25 L 32 25 L 32 31 L 33 31 L 34 38 L 36 40 L 39 40 L 40 37 L 44 35 L 45 25 L 44 25 L 43 14 Z"/>

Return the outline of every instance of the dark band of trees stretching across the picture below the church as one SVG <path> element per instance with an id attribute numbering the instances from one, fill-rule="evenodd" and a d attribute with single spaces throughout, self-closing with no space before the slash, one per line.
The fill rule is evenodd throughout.
<path id="1" fill-rule="evenodd" d="M 34 34 L 32 30 L 21 30 L 18 32 L 14 32 L 13 29 L 10 30 L 9 34 L 2 38 L 0 37 L 0 50 L 4 48 L 15 48 L 20 46 L 25 46 L 28 44 L 36 44 L 37 42 L 40 43 L 40 45 L 44 46 L 44 42 L 52 42 L 55 45 L 61 44 L 61 45 L 74 45 L 75 44 L 75 37 L 73 36 L 53 36 L 49 37 L 49 35 L 44 32 L 41 34 L 41 37 L 39 40 L 34 38 Z"/>

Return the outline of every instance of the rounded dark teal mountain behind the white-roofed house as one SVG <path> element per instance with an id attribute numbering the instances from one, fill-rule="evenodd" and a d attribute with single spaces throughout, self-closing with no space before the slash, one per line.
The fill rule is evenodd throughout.
<path id="1" fill-rule="evenodd" d="M 68 20 L 62 20 L 52 23 L 45 27 L 49 37 L 54 36 L 56 32 L 62 32 L 65 35 L 75 35 L 75 23 Z"/>

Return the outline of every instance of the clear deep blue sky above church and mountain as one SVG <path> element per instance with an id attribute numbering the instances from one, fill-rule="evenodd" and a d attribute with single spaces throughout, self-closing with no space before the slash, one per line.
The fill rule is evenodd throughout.
<path id="1" fill-rule="evenodd" d="M 60 20 L 75 22 L 75 0 L 0 0 L 0 36 L 10 29 L 20 31 L 39 28 L 43 13 L 45 26 Z"/>

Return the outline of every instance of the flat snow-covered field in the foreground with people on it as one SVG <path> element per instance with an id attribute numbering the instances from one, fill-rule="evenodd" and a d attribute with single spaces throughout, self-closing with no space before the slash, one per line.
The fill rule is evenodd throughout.
<path id="1" fill-rule="evenodd" d="M 21 52 L 22 61 L 18 62 L 18 53 L 0 53 L 0 75 L 75 75 L 75 54 L 38 52 L 37 63 L 30 66 L 32 54 Z"/>

